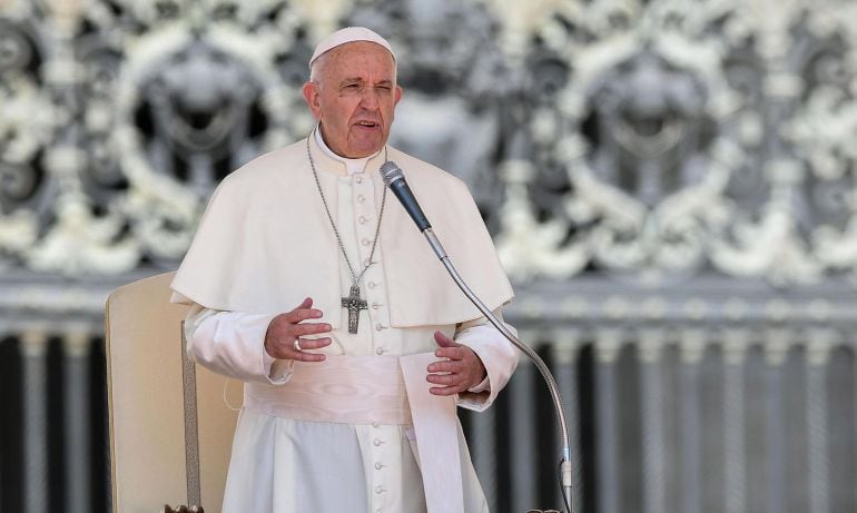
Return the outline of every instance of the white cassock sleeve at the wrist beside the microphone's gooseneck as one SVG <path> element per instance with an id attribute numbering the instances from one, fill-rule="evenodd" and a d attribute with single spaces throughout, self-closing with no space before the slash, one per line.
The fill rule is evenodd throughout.
<path id="1" fill-rule="evenodd" d="M 502 322 L 503 315 L 500 308 L 494 315 Z M 518 335 L 518 331 L 508 323 L 503 323 L 510 332 Z M 512 373 L 518 367 L 520 351 L 494 327 L 485 317 L 464 323 L 459 326 L 454 336 L 455 342 L 465 345 L 476 353 L 485 366 L 487 377 L 474 388 L 459 394 L 457 405 L 482 412 L 494 402 L 501 389 L 509 383 Z"/>

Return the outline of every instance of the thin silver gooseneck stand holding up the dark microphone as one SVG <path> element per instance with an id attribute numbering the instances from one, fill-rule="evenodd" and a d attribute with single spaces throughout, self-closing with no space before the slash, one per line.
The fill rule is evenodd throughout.
<path id="1" fill-rule="evenodd" d="M 565 424 L 565 410 L 562 406 L 562 399 L 560 398 L 560 388 L 556 386 L 556 381 L 553 378 L 553 374 L 551 374 L 550 368 L 548 368 L 548 365 L 544 363 L 544 361 L 539 356 L 539 354 L 532 349 L 532 347 L 528 346 L 523 342 L 519 341 L 518 337 L 509 331 L 509 328 L 505 326 L 505 324 L 501 323 L 500 319 L 496 318 L 493 312 L 491 312 L 482 300 L 476 297 L 476 295 L 471 290 L 471 288 L 467 286 L 466 283 L 462 279 L 461 275 L 459 275 L 459 272 L 455 270 L 455 267 L 452 265 L 452 262 L 450 262 L 450 257 L 446 255 L 446 251 L 443 249 L 443 246 L 441 245 L 441 241 L 437 240 L 437 236 L 434 235 L 434 231 L 432 230 L 431 226 L 425 228 L 423 230 L 423 235 L 428 240 L 428 245 L 432 246 L 432 249 L 434 250 L 434 254 L 437 255 L 437 258 L 441 259 L 441 263 L 444 267 L 446 267 L 446 270 L 450 273 L 450 276 L 452 276 L 452 279 L 455 280 L 455 284 L 461 288 L 461 292 L 464 293 L 465 296 L 467 296 L 467 299 L 473 303 L 473 305 L 479 308 L 480 312 L 482 312 L 482 315 L 485 316 L 485 318 L 489 319 L 489 322 L 494 325 L 498 331 L 503 334 L 509 342 L 512 343 L 515 347 L 518 347 L 521 353 L 525 354 L 530 359 L 533 361 L 535 364 L 535 367 L 539 369 L 539 372 L 542 374 L 542 377 L 544 378 L 545 383 L 548 384 L 548 388 L 551 392 L 551 398 L 553 399 L 553 407 L 556 412 L 556 420 L 559 421 L 560 426 L 560 433 L 562 436 L 562 461 L 560 462 L 560 486 L 562 490 L 562 499 L 565 501 L 565 504 L 563 504 L 563 507 L 569 513 L 574 513 L 574 504 L 572 501 L 571 495 L 571 444 L 569 442 L 569 427 Z"/>

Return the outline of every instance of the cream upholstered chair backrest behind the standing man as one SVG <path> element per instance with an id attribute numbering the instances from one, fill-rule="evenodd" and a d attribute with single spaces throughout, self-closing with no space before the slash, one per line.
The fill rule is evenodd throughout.
<path id="1" fill-rule="evenodd" d="M 187 307 L 169 303 L 173 275 L 126 285 L 107 299 L 110 468 L 118 513 L 151 513 L 193 500 L 188 483 L 196 481 L 195 465 L 186 464 L 185 441 L 186 434 L 193 437 L 193 427 L 186 430 L 186 410 L 194 421 L 193 403 L 186 399 L 193 398 L 194 388 L 201 505 L 214 513 L 223 502 L 237 413 L 224 402 L 226 377 L 193 364 L 183 376 Z M 185 383 L 193 383 L 194 374 L 196 386 L 186 396 Z"/>

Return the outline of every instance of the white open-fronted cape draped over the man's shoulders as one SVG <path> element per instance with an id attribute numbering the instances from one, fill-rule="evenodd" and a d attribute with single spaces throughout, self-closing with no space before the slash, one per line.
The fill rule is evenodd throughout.
<path id="1" fill-rule="evenodd" d="M 327 203 L 335 209 L 344 165 L 326 156 L 312 138 L 311 148 Z M 378 176 L 383 156 L 381 151 L 366 166 L 376 198 L 384 187 Z M 393 148 L 388 158 L 403 169 L 464 280 L 492 309 L 509 302 L 512 287 L 464 182 Z M 337 218 L 335 210 L 332 215 Z M 288 312 L 309 296 L 335 329 L 342 317 L 341 258 L 309 167 L 306 140 L 301 140 L 223 180 L 173 282 L 171 300 L 272 314 Z M 375 259 L 386 276 L 394 327 L 449 325 L 481 316 L 392 194 Z"/>

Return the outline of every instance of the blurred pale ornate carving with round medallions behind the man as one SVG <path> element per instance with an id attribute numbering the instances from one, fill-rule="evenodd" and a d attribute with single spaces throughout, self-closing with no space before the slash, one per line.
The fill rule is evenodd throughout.
<path id="1" fill-rule="evenodd" d="M 0 265 L 175 266 L 213 187 L 311 129 L 344 20 L 391 37 L 394 144 L 469 182 L 516 278 L 854 274 L 847 1 L 309 3 L 0 7 Z"/>

